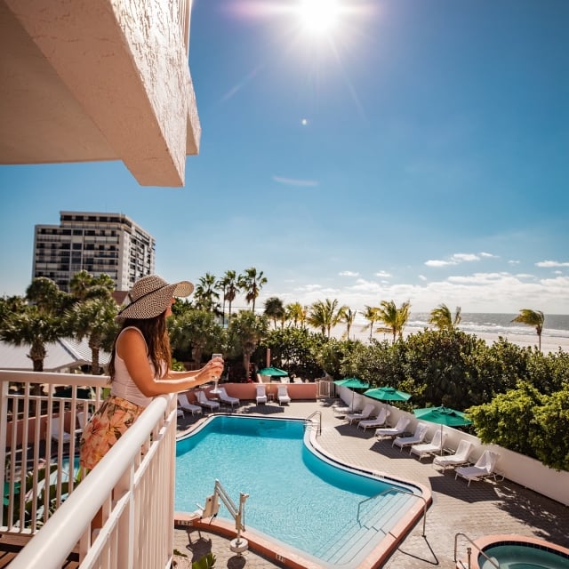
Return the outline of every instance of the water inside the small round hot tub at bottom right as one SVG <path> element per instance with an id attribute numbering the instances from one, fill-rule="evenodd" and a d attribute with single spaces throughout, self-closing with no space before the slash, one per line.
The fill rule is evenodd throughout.
<path id="1" fill-rule="evenodd" d="M 485 548 L 484 552 L 495 559 L 501 569 L 569 569 L 568 557 L 532 544 L 497 544 Z M 483 556 L 478 558 L 478 563 L 482 569 L 495 569 Z"/>

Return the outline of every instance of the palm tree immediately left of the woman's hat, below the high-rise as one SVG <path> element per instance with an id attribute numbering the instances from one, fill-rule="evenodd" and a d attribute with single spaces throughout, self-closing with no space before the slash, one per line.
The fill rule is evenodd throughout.
<path id="1" fill-rule="evenodd" d="M 110 351 L 116 334 L 116 302 L 107 299 L 92 298 L 77 302 L 65 314 L 65 325 L 78 341 L 89 340 L 91 349 L 91 373 L 98 375 L 100 370 L 99 354 L 101 349 Z"/>

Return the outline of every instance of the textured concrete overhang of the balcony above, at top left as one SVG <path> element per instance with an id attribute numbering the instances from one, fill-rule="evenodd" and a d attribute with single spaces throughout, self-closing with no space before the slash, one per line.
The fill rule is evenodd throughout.
<path id="1" fill-rule="evenodd" d="M 183 186 L 201 128 L 169 4 L 0 0 L 0 163 L 122 160 Z"/>

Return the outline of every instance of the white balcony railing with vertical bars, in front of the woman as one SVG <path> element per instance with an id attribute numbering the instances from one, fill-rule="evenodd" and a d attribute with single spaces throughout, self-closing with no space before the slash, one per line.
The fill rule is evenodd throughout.
<path id="1" fill-rule="evenodd" d="M 168 567 L 173 552 L 176 403 L 156 397 L 95 469 L 76 463 L 77 413 L 100 405 L 106 377 L 0 370 L 0 533 L 27 539 L 11 569 L 60 567 L 67 558 L 81 569 Z M 22 386 L 20 392 L 14 389 Z M 31 395 L 38 386 L 48 395 Z M 71 385 L 71 397 L 53 395 Z M 94 398 L 77 397 L 77 387 Z M 36 389 L 37 390 L 37 389 Z M 70 433 L 56 443 L 53 421 Z M 101 518 L 100 528 L 95 529 Z"/>

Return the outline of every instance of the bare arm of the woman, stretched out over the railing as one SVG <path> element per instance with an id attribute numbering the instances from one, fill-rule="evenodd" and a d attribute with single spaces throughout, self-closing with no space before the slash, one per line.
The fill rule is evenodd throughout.
<path id="1" fill-rule="evenodd" d="M 223 373 L 223 360 L 216 357 L 199 370 L 191 372 L 171 370 L 164 378 L 156 379 L 148 362 L 146 342 L 137 330 L 125 330 L 121 334 L 116 342 L 116 354 L 123 358 L 132 381 L 146 397 L 196 388 L 219 378 Z"/>

